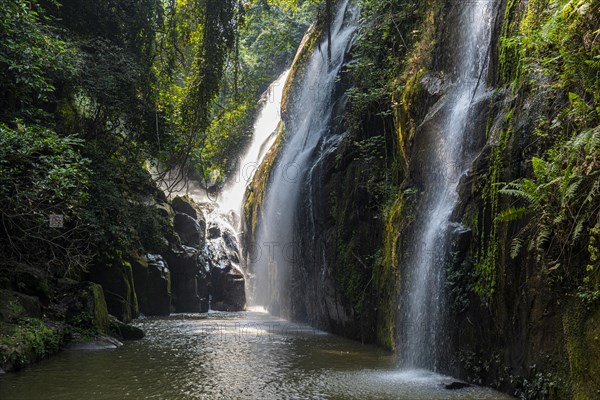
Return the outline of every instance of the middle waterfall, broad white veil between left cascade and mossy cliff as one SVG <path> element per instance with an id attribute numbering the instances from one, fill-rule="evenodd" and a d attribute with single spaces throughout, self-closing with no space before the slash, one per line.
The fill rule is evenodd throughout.
<path id="1" fill-rule="evenodd" d="M 271 171 L 256 235 L 260 257 L 252 262 L 251 302 L 284 317 L 290 317 L 290 271 L 299 255 L 294 233 L 300 193 L 319 153 L 335 145 L 328 138 L 332 97 L 357 14 L 349 0 L 342 1 L 331 22 L 331 41 L 321 39 L 311 54 L 288 103 L 283 146 Z"/>

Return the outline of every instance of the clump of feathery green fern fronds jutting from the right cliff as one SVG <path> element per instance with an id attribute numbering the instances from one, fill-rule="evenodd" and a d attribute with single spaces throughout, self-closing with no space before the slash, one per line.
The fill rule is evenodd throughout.
<path id="1" fill-rule="evenodd" d="M 534 179 L 521 178 L 500 190 L 521 200 L 524 206 L 510 208 L 498 218 L 510 221 L 530 217 L 513 240 L 513 256 L 527 240 L 528 250 L 535 251 L 546 272 L 557 275 L 565 285 L 571 281 L 585 286 L 592 282 L 587 275 L 596 273 L 599 154 L 600 128 L 583 131 L 550 149 L 546 160 L 534 157 Z M 588 243 L 589 261 L 581 265 L 576 254 Z"/>

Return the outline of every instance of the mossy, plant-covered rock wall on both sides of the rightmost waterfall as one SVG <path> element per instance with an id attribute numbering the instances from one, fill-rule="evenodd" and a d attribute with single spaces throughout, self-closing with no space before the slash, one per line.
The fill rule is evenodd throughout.
<path id="1" fill-rule="evenodd" d="M 420 251 L 414 216 L 424 176 L 443 174 L 422 156 L 424 122 L 455 83 L 456 6 L 365 4 L 331 100 L 328 137 L 341 139 L 316 151 L 300 199 L 288 205 L 301 249 L 286 282 L 290 318 L 390 349 L 406 340 L 398 301 Z M 437 260 L 450 322 L 437 368 L 523 398 L 595 398 L 598 2 L 492 8 L 489 66 L 476 83 L 488 90 L 472 99 L 465 128 L 474 161 L 457 182 L 450 246 Z M 317 26 L 300 50 L 288 97 L 323 32 Z M 286 118 L 246 204 L 249 243 L 277 179 Z"/>

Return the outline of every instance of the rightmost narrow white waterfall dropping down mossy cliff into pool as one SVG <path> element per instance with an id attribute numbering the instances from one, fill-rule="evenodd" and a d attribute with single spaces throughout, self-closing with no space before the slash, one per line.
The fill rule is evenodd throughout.
<path id="1" fill-rule="evenodd" d="M 399 353 L 406 368 L 437 370 L 445 344 L 444 264 L 457 186 L 472 162 L 467 142 L 473 104 L 485 92 L 493 1 L 455 2 L 454 43 L 447 46 L 454 83 L 417 135 L 424 193 L 415 215 L 410 256 L 403 267 Z"/>

